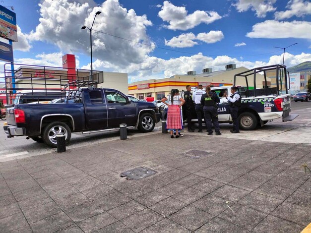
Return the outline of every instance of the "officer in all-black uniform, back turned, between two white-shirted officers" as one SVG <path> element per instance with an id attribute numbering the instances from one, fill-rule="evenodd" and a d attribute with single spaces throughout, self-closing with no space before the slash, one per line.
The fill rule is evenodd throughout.
<path id="1" fill-rule="evenodd" d="M 209 86 L 206 87 L 206 94 L 201 97 L 201 104 L 203 105 L 204 118 L 208 135 L 213 135 L 212 121 L 214 124 L 216 135 L 221 135 L 218 122 L 217 103 L 220 102 L 219 97 L 215 92 L 211 92 Z"/>

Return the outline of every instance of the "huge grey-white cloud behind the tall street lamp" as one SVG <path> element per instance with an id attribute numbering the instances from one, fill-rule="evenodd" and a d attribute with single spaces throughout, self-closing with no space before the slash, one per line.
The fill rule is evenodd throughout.
<path id="1" fill-rule="evenodd" d="M 131 63 L 142 62 L 145 55 L 153 51 L 152 47 L 96 32 L 102 31 L 154 46 L 146 33 L 146 28 L 152 25 L 146 15 L 136 15 L 133 9 L 127 10 L 122 7 L 118 0 L 106 0 L 100 6 L 96 6 L 92 0 L 86 3 L 84 0 L 79 2 L 42 1 L 39 4 L 40 24 L 30 33 L 29 38 L 55 44 L 64 53 L 82 51 L 89 54 L 90 34 L 87 29 L 82 30 L 81 26 L 90 27 L 95 12 L 101 11 L 102 13 L 96 16 L 92 31 L 94 60 L 99 58 L 126 67 Z"/>

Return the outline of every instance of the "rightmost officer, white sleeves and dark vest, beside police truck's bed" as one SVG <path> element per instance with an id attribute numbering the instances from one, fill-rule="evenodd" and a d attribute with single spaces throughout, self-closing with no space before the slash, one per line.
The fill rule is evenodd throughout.
<path id="1" fill-rule="evenodd" d="M 226 97 L 230 103 L 230 113 L 233 120 L 233 130 L 230 130 L 230 132 L 240 133 L 238 112 L 239 107 L 241 107 L 242 97 L 238 92 L 238 87 L 235 86 L 231 87 L 231 94 L 232 95 L 229 97 L 226 92 L 224 93 L 224 97 Z"/>

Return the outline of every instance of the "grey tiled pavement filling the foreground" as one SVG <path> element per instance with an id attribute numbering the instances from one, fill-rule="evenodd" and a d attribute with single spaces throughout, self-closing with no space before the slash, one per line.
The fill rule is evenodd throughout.
<path id="1" fill-rule="evenodd" d="M 161 133 L 4 162 L 0 232 L 299 233 L 311 222 L 304 162 L 310 145 Z M 158 173 L 120 176 L 139 166 Z"/>

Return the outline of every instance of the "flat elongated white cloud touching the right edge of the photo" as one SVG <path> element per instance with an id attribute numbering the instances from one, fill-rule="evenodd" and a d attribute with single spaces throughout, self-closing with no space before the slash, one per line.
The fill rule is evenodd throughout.
<path id="1" fill-rule="evenodd" d="M 252 26 L 252 31 L 246 36 L 250 38 L 302 38 L 310 39 L 311 22 L 292 21 L 279 22 L 276 20 L 266 20 Z"/>

